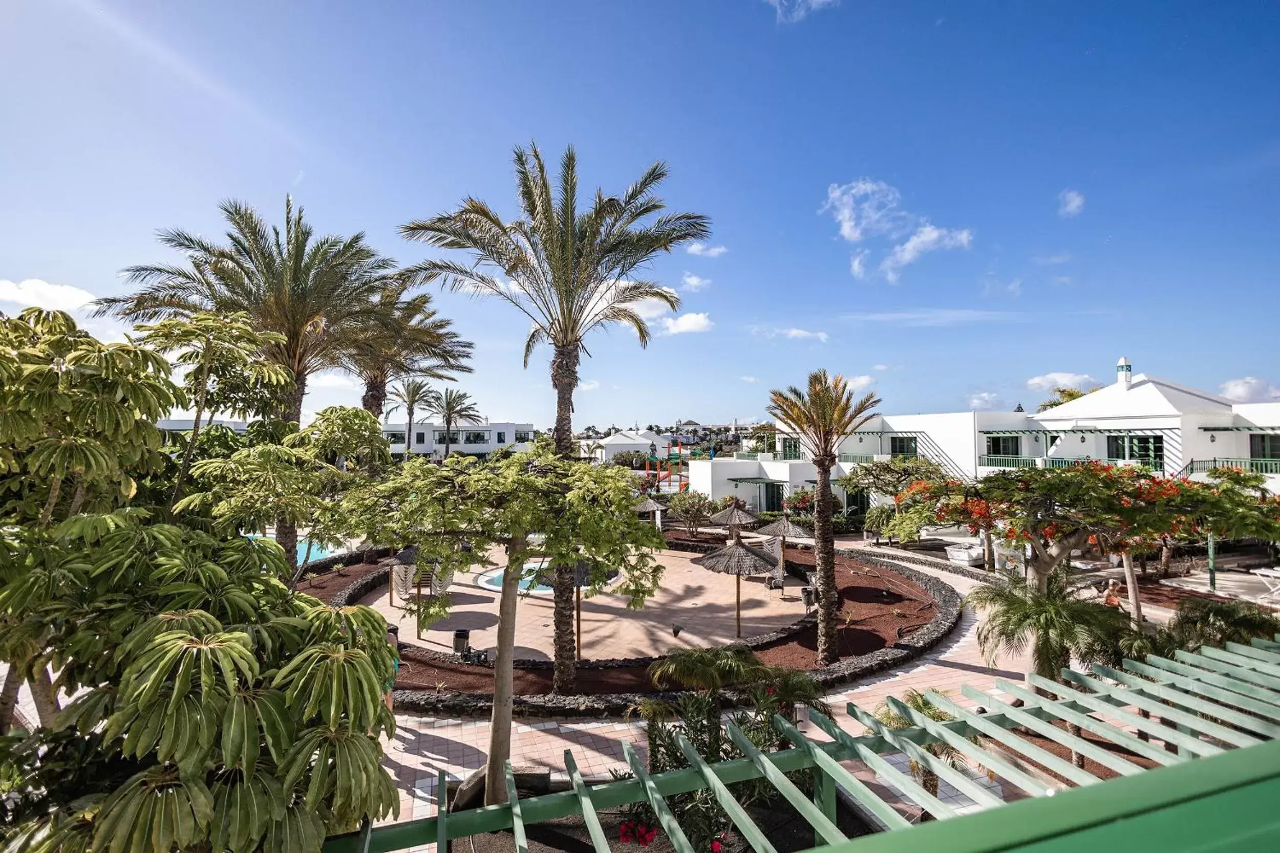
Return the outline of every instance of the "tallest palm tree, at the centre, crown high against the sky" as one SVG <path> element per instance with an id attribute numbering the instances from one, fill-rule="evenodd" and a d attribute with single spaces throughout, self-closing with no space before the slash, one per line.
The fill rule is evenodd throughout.
<path id="1" fill-rule="evenodd" d="M 536 146 L 515 151 L 516 191 L 521 216 L 503 221 L 485 202 L 467 198 L 458 210 L 401 226 L 401 234 L 438 248 L 462 249 L 472 262 L 430 260 L 416 272 L 452 290 L 494 297 L 530 320 L 525 367 L 541 343 L 552 347 L 552 386 L 556 389 L 556 428 L 561 455 L 575 455 L 573 390 L 586 336 L 622 324 L 635 330 L 640 345 L 649 343 L 649 324 L 636 311 L 641 302 L 680 307 L 673 290 L 657 281 L 637 280 L 636 272 L 662 252 L 689 240 L 705 239 L 710 220 L 698 214 L 663 214 L 654 194 L 667 178 L 655 162 L 620 196 L 595 192 L 579 210 L 577 156 L 570 147 L 561 157 L 557 188 L 547 176 Z M 650 219 L 653 217 L 653 219 Z M 554 579 L 556 674 L 553 689 L 572 691 L 576 675 L 573 647 L 573 567 L 557 565 Z"/>

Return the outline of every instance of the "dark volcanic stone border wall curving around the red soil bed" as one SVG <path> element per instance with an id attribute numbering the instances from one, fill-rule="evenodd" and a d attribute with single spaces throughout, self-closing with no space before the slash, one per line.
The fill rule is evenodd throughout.
<path id="1" fill-rule="evenodd" d="M 964 599 L 951 586 L 933 575 L 916 572 L 891 560 L 881 559 L 861 551 L 841 549 L 842 556 L 856 559 L 886 572 L 901 575 L 929 593 L 938 614 L 910 637 L 892 646 L 879 648 L 868 655 L 847 657 L 833 666 L 810 670 L 809 674 L 823 687 L 836 687 L 874 673 L 900 666 L 933 648 L 960 622 Z M 957 567 L 960 568 L 960 567 Z M 959 573 L 957 573 L 959 574 Z M 374 575 L 370 575 L 374 577 Z M 356 586 L 356 584 L 352 584 Z M 372 587 L 370 587 L 372 588 Z M 813 620 L 814 616 L 805 616 Z M 800 624 L 795 623 L 795 624 Z M 812 622 L 809 623 L 812 624 Z M 795 625 L 791 625 L 795 627 Z M 788 628 L 791 628 L 788 627 Z M 786 629 L 783 629 L 786 630 Z M 764 634 L 765 637 L 768 634 Z M 753 638 L 760 639 L 760 638 Z M 422 651 L 422 650 L 415 650 Z M 428 652 L 435 655 L 436 652 Z M 452 657 L 452 656 L 449 656 Z M 652 659 L 634 659 L 652 660 Z M 545 664 L 547 661 L 540 661 Z M 584 661 L 580 665 L 584 665 Z M 744 705 L 746 694 L 740 691 L 722 691 L 722 701 L 727 707 Z M 548 716 L 621 716 L 637 706 L 643 700 L 673 701 L 678 693 L 602 693 L 598 696 L 517 696 L 513 698 L 513 714 L 522 717 Z M 493 710 L 493 696 L 488 693 L 436 693 L 434 691 L 396 691 L 397 711 L 410 711 L 445 716 L 485 716 Z"/>

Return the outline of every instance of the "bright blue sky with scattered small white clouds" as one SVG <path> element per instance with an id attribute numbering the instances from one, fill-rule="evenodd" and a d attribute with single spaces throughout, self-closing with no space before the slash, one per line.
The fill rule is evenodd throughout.
<path id="1" fill-rule="evenodd" d="M 10 0 L 0 311 L 120 292 L 227 197 L 416 261 L 397 226 L 515 215 L 536 141 L 607 191 L 664 160 L 714 224 L 654 265 L 685 306 L 648 349 L 589 341 L 576 426 L 759 418 L 817 367 L 886 412 L 1012 408 L 1121 354 L 1280 398 L 1276 43 L 1266 3 Z M 438 302 L 481 409 L 548 425 L 525 322 Z"/>

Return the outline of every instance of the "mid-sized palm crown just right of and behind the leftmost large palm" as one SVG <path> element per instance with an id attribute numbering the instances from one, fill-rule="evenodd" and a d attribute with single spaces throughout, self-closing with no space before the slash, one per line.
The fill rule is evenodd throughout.
<path id="1" fill-rule="evenodd" d="M 396 376 L 452 380 L 453 373 L 471 372 L 466 361 L 472 344 L 451 330 L 453 321 L 436 316 L 431 294 L 401 299 L 394 312 L 399 334 L 370 327 L 352 340 L 340 359 L 365 386 L 360 405 L 379 419 L 387 408 L 387 385 Z"/>

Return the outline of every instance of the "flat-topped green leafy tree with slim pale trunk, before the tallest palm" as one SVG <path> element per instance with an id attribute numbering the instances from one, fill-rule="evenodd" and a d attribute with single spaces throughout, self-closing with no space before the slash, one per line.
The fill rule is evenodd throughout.
<path id="1" fill-rule="evenodd" d="M 511 756 L 520 582 L 540 570 L 539 558 L 553 565 L 581 563 L 588 567 L 590 595 L 616 569 L 621 581 L 611 592 L 625 596 L 628 607 L 641 606 L 658 587 L 662 567 L 650 549 L 662 541 L 634 505 L 630 472 L 564 459 L 547 442 L 485 462 L 460 455 L 434 464 L 413 458 L 390 477 L 344 496 L 352 532 L 396 549 L 416 546 L 419 570 L 428 565 L 443 573 L 470 570 L 486 565 L 492 547 L 507 551 L 485 771 L 489 803 L 507 799 L 503 765 Z"/>

